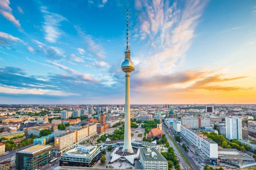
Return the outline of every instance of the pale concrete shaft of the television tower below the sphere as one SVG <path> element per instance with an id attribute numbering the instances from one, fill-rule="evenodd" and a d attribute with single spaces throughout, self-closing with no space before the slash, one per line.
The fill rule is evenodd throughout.
<path id="1" fill-rule="evenodd" d="M 125 73 L 125 114 L 124 114 L 124 144 L 122 151 L 133 153 L 131 142 L 131 116 L 130 116 L 130 73 Z"/>

